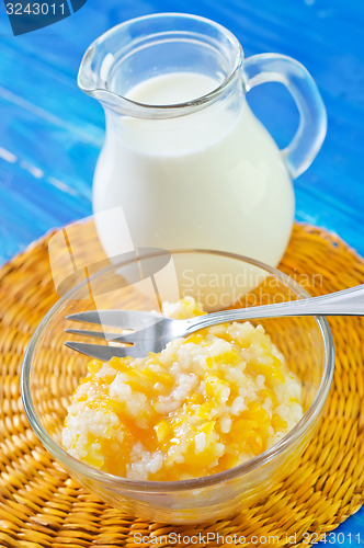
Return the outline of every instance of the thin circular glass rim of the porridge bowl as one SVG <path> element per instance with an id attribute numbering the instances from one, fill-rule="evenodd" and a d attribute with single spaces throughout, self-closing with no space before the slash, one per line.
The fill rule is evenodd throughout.
<path id="1" fill-rule="evenodd" d="M 133 258 L 120 262 L 112 263 L 111 265 L 106 266 L 105 269 L 102 269 L 101 271 L 96 272 L 95 274 L 91 275 L 88 279 L 80 282 L 79 284 L 75 285 L 69 292 L 67 292 L 64 296 L 60 297 L 60 299 L 57 300 L 57 302 L 48 310 L 48 312 L 44 316 L 44 318 L 41 320 L 38 326 L 36 327 L 36 330 L 34 331 L 31 341 L 26 347 L 23 364 L 22 364 L 22 369 L 21 369 L 21 397 L 22 397 L 22 402 L 24 407 L 24 411 L 26 414 L 26 418 L 30 422 L 30 425 L 38 439 L 42 442 L 42 444 L 48 449 L 48 452 L 61 464 L 65 465 L 66 468 L 69 468 L 70 470 L 75 471 L 76 473 L 80 473 L 82 476 L 87 476 L 90 479 L 94 479 L 103 484 L 113 484 L 113 487 L 121 487 L 125 488 L 128 490 L 134 490 L 134 491 L 145 491 L 148 490 L 149 492 L 166 492 L 166 491 L 184 491 L 184 490 L 190 490 L 190 489 L 198 489 L 198 488 L 204 488 L 208 487 L 212 484 L 216 484 L 219 482 L 223 482 L 225 480 L 232 480 L 234 478 L 237 478 L 239 476 L 247 475 L 249 472 L 252 472 L 253 470 L 258 469 L 262 465 L 268 464 L 269 461 L 273 460 L 274 458 L 280 457 L 286 449 L 289 448 L 289 445 L 293 445 L 299 437 L 309 429 L 310 424 L 315 421 L 319 412 L 321 411 L 327 396 L 330 390 L 332 377 L 333 377 L 333 369 L 334 369 L 334 346 L 333 346 L 333 340 L 331 335 L 331 331 L 329 328 L 329 324 L 323 316 L 316 316 L 314 319 L 316 320 L 316 323 L 318 324 L 320 334 L 322 336 L 323 341 L 323 351 L 325 351 L 325 365 L 323 365 L 323 372 L 321 375 L 321 380 L 320 385 L 317 389 L 316 396 L 314 398 L 314 401 L 307 409 L 307 411 L 304 413 L 303 418 L 300 421 L 277 443 L 275 443 L 272 447 L 266 449 L 265 452 L 261 453 L 257 457 L 241 464 L 238 466 L 235 466 L 232 468 L 229 468 L 227 470 L 213 473 L 211 476 L 203 476 L 198 478 L 193 478 L 193 479 L 186 479 L 186 480 L 174 480 L 174 481 L 152 481 L 152 480 L 132 480 L 127 479 L 121 476 L 115 476 L 109 472 L 104 472 L 102 470 L 99 470 L 98 468 L 94 468 L 86 463 L 82 463 L 81 460 L 78 460 L 77 458 L 72 457 L 69 455 L 66 449 L 64 449 L 46 431 L 46 429 L 43 426 L 42 422 L 38 419 L 38 415 L 35 411 L 32 396 L 31 396 L 31 390 L 30 390 L 30 377 L 31 377 L 31 368 L 32 368 L 32 358 L 33 354 L 36 350 L 36 344 L 42 335 L 46 324 L 48 323 L 49 319 L 54 316 L 55 312 L 65 304 L 67 302 L 72 295 L 75 295 L 79 289 L 84 287 L 84 285 L 88 283 L 90 279 L 94 279 L 98 277 L 101 277 L 102 275 L 106 274 L 110 271 L 113 271 L 115 269 L 118 269 L 121 266 L 126 266 L 135 261 L 138 261 L 140 259 L 151 259 L 155 256 L 158 256 L 159 254 L 166 253 L 167 250 L 161 250 L 160 252 L 152 252 L 152 253 L 147 253 L 143 255 L 141 258 Z M 192 254 L 192 253 L 202 253 L 202 254 L 209 254 L 209 255 L 217 255 L 217 256 L 224 256 L 226 259 L 234 259 L 239 262 L 246 262 L 252 266 L 258 266 L 265 272 L 269 272 L 270 274 L 274 275 L 276 278 L 278 278 L 281 282 L 283 282 L 288 288 L 293 289 L 299 297 L 310 297 L 310 295 L 304 289 L 295 279 L 293 279 L 291 276 L 287 274 L 284 274 L 280 270 L 275 269 L 274 266 L 270 266 L 268 264 L 264 264 L 260 261 L 257 261 L 254 259 L 244 256 L 244 255 L 239 255 L 237 253 L 230 253 L 228 251 L 217 251 L 217 250 L 207 250 L 207 249 L 175 249 L 175 250 L 168 250 L 168 253 L 171 255 L 173 254 Z"/>

